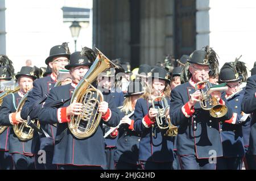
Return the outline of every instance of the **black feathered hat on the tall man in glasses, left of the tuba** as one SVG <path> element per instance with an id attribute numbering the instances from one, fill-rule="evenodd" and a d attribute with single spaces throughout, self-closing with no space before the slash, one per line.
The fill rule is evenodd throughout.
<path id="1" fill-rule="evenodd" d="M 61 45 L 56 45 L 51 48 L 49 52 L 49 57 L 46 58 L 46 65 L 52 61 L 55 57 L 67 57 L 70 58 L 70 52 L 68 48 L 68 43 L 63 43 Z"/>

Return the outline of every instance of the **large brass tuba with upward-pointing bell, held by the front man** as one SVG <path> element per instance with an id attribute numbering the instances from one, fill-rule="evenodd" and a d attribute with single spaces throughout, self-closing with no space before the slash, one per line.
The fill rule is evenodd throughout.
<path id="1" fill-rule="evenodd" d="M 68 128 L 76 138 L 86 138 L 91 136 L 101 121 L 102 113 L 98 112 L 98 105 L 104 101 L 102 92 L 96 89 L 92 83 L 97 76 L 109 68 L 118 68 L 103 53 L 98 50 L 97 58 L 93 62 L 88 72 L 82 77 L 76 89 L 73 91 L 71 103 L 82 103 L 82 114 L 72 115 Z"/>

